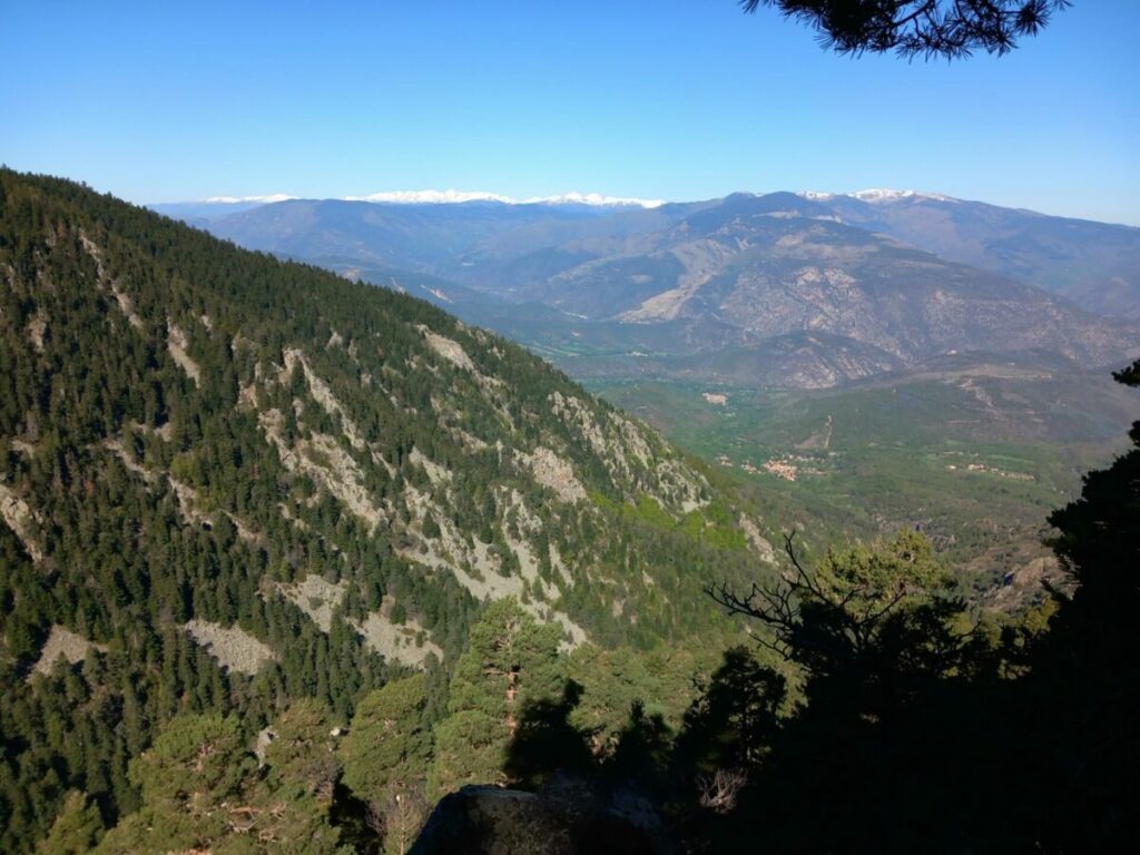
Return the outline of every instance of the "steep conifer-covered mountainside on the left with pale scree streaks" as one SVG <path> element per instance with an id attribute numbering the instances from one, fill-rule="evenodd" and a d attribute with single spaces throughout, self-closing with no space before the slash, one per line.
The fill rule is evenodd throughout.
<path id="1" fill-rule="evenodd" d="M 733 637 L 702 586 L 772 567 L 715 473 L 418 300 L 7 170 L 0 279 L 0 849 L 138 807 L 176 714 L 245 744 L 426 669 L 431 722 L 488 601 L 588 659 Z"/>

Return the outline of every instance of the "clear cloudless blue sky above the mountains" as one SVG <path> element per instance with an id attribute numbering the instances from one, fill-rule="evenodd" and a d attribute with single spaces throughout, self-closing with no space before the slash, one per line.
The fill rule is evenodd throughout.
<path id="1" fill-rule="evenodd" d="M 947 65 L 733 0 L 0 0 L 0 162 L 135 202 L 890 187 L 1140 225 L 1137 32 L 1076 0 Z"/>

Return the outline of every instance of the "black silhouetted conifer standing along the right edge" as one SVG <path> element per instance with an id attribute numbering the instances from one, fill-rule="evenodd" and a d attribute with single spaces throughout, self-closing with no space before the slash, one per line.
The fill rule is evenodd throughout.
<path id="1" fill-rule="evenodd" d="M 1140 361 L 1116 378 L 1140 386 Z M 1140 834 L 1140 422 L 1133 447 L 1050 516 L 1073 581 L 1031 654 L 1024 720 L 1054 850 L 1123 850 Z"/>

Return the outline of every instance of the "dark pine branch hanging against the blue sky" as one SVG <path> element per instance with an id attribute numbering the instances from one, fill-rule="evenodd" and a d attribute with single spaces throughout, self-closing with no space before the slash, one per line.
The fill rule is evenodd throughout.
<path id="1" fill-rule="evenodd" d="M 812 26 L 839 54 L 953 59 L 975 50 L 1008 54 L 1017 40 L 1041 32 L 1070 0 L 741 0 Z"/>

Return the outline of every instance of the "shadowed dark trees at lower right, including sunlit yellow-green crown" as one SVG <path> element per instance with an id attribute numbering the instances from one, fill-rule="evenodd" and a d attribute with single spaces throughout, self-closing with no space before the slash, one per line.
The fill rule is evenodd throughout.
<path id="1" fill-rule="evenodd" d="M 1140 363 L 1117 380 L 1140 386 Z M 1050 518 L 1070 576 L 1035 620 L 972 624 L 910 532 L 775 587 L 710 594 L 804 676 L 804 703 L 703 839 L 773 852 L 1125 852 L 1140 838 L 1140 422 Z M 743 681 L 755 682 L 755 677 Z M 739 691 L 739 686 L 735 686 Z M 760 747 L 764 740 L 754 740 Z"/>

